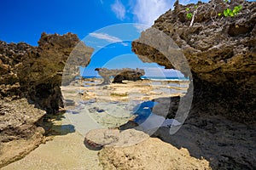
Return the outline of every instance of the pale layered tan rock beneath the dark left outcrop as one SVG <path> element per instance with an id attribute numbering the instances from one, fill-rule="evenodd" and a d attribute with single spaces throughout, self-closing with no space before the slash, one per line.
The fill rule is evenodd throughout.
<path id="1" fill-rule="evenodd" d="M 44 142 L 44 128 L 36 123 L 45 111 L 26 99 L 0 100 L 0 167 L 25 156 Z"/>

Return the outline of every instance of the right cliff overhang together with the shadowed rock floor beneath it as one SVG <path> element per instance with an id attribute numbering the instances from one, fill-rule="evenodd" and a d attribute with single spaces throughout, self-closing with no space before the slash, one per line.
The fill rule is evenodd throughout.
<path id="1" fill-rule="evenodd" d="M 193 103 L 183 127 L 174 135 L 160 128 L 154 136 L 187 148 L 191 156 L 204 156 L 213 169 L 255 169 L 256 2 L 212 0 L 196 5 L 175 3 L 174 10 L 161 15 L 132 42 L 132 50 L 143 62 L 175 68 L 193 79 Z M 237 5 L 242 6 L 241 12 L 223 16 L 224 9 Z M 186 8 L 192 13 L 197 8 L 192 26 Z M 177 53 L 170 61 L 143 43 L 155 42 L 154 29 L 172 38 L 172 48 L 183 53 L 192 75 L 183 67 L 183 60 L 172 65 L 180 59 Z M 161 38 L 157 41 L 161 46 L 170 43 Z M 159 109 L 166 111 L 164 106 Z M 172 109 L 166 109 L 173 116 Z"/>

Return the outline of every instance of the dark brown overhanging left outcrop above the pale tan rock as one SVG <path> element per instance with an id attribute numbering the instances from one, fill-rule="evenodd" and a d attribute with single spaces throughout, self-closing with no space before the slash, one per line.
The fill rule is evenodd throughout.
<path id="1" fill-rule="evenodd" d="M 1 42 L 0 98 L 26 98 L 48 113 L 57 112 L 59 106 L 62 106 L 61 76 L 67 58 L 76 55 L 77 60 L 84 59 L 84 65 L 90 62 L 92 48 L 87 48 L 82 43 L 79 43 L 82 47 L 75 48 L 78 43 L 79 38 L 72 33 L 63 36 L 43 33 L 38 47 L 24 42 Z M 84 53 L 81 53 L 81 48 Z M 76 76 L 70 75 L 72 78 Z"/>

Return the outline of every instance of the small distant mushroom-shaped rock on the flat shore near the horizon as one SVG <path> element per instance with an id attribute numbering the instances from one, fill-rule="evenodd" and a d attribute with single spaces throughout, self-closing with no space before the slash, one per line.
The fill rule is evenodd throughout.
<path id="1" fill-rule="evenodd" d="M 122 83 L 123 80 L 137 81 L 141 80 L 141 77 L 145 74 L 143 69 L 115 69 L 108 70 L 106 68 L 96 68 L 98 74 L 103 77 L 104 84 L 110 83 L 110 77 L 113 77 L 113 82 Z"/>

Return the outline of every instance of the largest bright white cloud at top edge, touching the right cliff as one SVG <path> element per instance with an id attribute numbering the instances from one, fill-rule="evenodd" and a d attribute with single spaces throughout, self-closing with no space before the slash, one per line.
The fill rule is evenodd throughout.
<path id="1" fill-rule="evenodd" d="M 136 21 L 147 26 L 152 26 L 161 14 L 172 8 L 173 0 L 135 0 L 133 14 Z"/>

